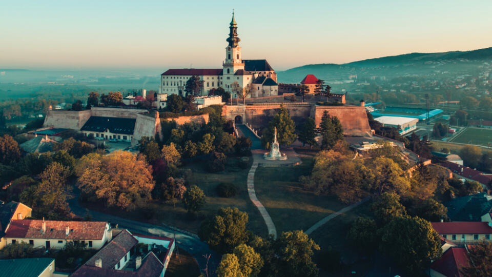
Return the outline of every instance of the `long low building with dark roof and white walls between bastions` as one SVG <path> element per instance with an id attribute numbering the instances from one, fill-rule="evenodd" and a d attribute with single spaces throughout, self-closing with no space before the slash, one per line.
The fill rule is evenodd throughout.
<path id="1" fill-rule="evenodd" d="M 135 122 L 135 118 L 91 116 L 80 131 L 100 140 L 131 141 Z"/>

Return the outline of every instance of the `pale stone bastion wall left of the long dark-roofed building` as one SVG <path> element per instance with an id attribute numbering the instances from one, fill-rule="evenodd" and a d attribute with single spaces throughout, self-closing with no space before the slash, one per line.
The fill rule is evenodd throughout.
<path id="1" fill-rule="evenodd" d="M 51 110 L 46 114 L 43 127 L 66 128 L 80 130 L 91 117 L 90 110 L 84 111 L 62 111 Z"/>

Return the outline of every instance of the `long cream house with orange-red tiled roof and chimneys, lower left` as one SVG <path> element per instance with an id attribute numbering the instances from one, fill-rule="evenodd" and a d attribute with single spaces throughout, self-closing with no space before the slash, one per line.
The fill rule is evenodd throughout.
<path id="1" fill-rule="evenodd" d="M 100 249 L 112 239 L 107 222 L 13 220 L 5 231 L 7 245 L 29 243 L 34 248 L 61 249 L 68 242 L 82 241 L 88 249 Z"/>

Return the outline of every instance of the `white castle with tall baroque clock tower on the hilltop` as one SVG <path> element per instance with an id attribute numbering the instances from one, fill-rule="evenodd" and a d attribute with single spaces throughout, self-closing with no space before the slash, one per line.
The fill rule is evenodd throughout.
<path id="1" fill-rule="evenodd" d="M 229 91 L 233 98 L 237 93 L 233 90 L 233 83 L 237 82 L 240 89 L 250 89 L 248 97 L 262 97 L 278 95 L 277 73 L 268 64 L 267 60 L 242 60 L 241 39 L 237 36 L 237 23 L 232 14 L 227 38 L 226 60 L 222 68 L 218 69 L 169 69 L 161 74 L 160 94 L 179 94 L 185 96 L 186 81 L 197 76 L 203 84 L 201 95 L 208 95 L 211 89 L 219 87 Z"/>

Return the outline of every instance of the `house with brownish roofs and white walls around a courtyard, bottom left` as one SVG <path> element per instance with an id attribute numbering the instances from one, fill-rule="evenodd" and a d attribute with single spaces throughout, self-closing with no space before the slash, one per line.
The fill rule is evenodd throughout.
<path id="1" fill-rule="evenodd" d="M 136 235 L 128 230 L 115 230 L 116 232 L 118 233 L 113 240 L 71 276 L 162 277 L 165 274 L 174 250 L 174 240 Z"/>

